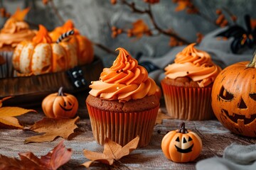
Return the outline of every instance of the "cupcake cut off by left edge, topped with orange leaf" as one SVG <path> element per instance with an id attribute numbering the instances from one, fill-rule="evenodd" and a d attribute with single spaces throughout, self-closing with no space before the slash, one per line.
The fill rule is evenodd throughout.
<path id="1" fill-rule="evenodd" d="M 0 55 L 6 60 L 0 66 L 0 78 L 13 76 L 12 55 L 16 45 L 23 40 L 31 40 L 36 35 L 36 30 L 31 30 L 28 23 L 23 21 L 28 11 L 29 8 L 23 11 L 18 8 L 0 30 Z"/>

